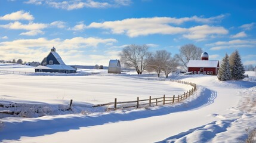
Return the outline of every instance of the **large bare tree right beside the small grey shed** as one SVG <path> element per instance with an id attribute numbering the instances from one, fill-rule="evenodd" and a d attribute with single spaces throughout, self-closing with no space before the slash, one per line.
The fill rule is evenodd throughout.
<path id="1" fill-rule="evenodd" d="M 129 45 L 119 54 L 125 67 L 134 67 L 141 74 L 149 64 L 151 53 L 147 45 Z"/>

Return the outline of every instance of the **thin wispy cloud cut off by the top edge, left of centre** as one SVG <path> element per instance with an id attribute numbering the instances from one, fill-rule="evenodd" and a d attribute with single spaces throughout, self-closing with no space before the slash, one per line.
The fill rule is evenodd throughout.
<path id="1" fill-rule="evenodd" d="M 26 4 L 35 5 L 48 5 L 53 8 L 63 9 L 63 10 L 77 10 L 81 8 L 108 8 L 108 7 L 120 7 L 127 6 L 131 4 L 131 0 L 114 0 L 114 1 L 93 1 L 93 0 L 76 0 L 76 1 L 66 1 L 66 0 L 29 0 L 24 2 Z"/>

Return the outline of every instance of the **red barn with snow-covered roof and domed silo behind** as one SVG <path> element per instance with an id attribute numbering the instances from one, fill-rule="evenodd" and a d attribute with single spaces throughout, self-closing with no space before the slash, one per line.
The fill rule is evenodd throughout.
<path id="1" fill-rule="evenodd" d="M 217 75 L 220 64 L 218 60 L 209 60 L 207 52 L 203 52 L 201 60 L 190 60 L 187 64 L 187 71 L 193 74 L 212 74 Z"/>

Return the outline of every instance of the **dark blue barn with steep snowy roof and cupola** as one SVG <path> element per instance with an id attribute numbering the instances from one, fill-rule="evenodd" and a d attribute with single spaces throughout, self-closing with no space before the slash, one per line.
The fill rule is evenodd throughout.
<path id="1" fill-rule="evenodd" d="M 41 65 L 35 68 L 35 71 L 51 73 L 76 73 L 76 69 L 67 66 L 63 62 L 54 47 L 51 48 L 51 52 L 47 55 L 47 57 L 42 60 Z"/>

